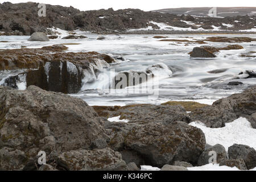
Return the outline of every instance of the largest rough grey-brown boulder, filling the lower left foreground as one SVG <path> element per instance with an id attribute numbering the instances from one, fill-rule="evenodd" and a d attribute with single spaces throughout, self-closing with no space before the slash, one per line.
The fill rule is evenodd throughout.
<path id="1" fill-rule="evenodd" d="M 0 169 L 32 168 L 39 151 L 47 164 L 65 151 L 95 148 L 108 136 L 86 102 L 30 86 L 0 87 Z"/>

